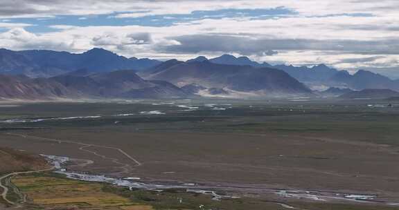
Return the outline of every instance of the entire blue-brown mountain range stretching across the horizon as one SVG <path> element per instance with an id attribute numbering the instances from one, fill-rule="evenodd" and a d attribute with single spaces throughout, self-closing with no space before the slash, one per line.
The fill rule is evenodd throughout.
<path id="1" fill-rule="evenodd" d="M 0 75 L 0 97 L 21 99 L 337 97 L 353 90 L 399 90 L 398 80 L 366 70 L 351 75 L 324 64 L 272 66 L 233 55 L 157 61 L 101 48 L 79 54 L 0 49 Z"/>

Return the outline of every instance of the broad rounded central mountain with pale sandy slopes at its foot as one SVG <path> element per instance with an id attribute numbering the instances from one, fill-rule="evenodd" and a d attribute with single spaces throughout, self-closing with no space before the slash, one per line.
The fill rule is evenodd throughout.
<path id="1" fill-rule="evenodd" d="M 147 75 L 147 79 L 165 80 L 177 86 L 197 84 L 205 88 L 219 88 L 236 93 L 251 93 L 262 97 L 310 95 L 305 85 L 282 70 L 213 64 L 210 61 L 189 61 Z"/>

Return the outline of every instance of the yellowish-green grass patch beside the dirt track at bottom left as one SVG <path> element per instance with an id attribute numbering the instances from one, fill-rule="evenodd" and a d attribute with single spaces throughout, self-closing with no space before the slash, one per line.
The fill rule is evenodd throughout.
<path id="1" fill-rule="evenodd" d="M 12 182 L 27 196 L 26 205 L 45 208 L 150 210 L 114 193 L 103 191 L 103 184 L 68 180 L 53 175 L 25 175 Z"/>

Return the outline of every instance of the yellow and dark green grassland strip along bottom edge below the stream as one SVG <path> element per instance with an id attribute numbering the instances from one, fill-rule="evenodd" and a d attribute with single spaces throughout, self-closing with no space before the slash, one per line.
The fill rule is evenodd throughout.
<path id="1" fill-rule="evenodd" d="M 26 209 L 237 209 L 279 210 L 287 207 L 330 210 L 393 210 L 390 207 L 353 204 L 289 202 L 287 204 L 257 198 L 211 200 L 209 195 L 187 193 L 178 189 L 144 191 L 114 187 L 109 184 L 69 180 L 53 173 L 21 175 L 12 182 L 27 196 Z M 285 207 L 282 206 L 286 205 Z"/>

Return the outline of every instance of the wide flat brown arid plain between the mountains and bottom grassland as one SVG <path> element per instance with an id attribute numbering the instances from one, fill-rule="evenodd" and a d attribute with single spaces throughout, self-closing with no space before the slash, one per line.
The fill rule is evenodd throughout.
<path id="1" fill-rule="evenodd" d="M 399 109 L 384 101 L 175 100 L 1 109 L 2 146 L 71 158 L 67 171 L 280 203 L 271 209 L 287 209 L 281 203 L 395 209 L 399 202 Z"/>

